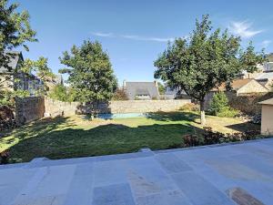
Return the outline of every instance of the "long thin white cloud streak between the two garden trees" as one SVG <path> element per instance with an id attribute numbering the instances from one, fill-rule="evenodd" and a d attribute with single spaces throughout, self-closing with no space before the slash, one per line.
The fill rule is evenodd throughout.
<path id="1" fill-rule="evenodd" d="M 120 37 L 138 41 L 155 41 L 155 42 L 168 42 L 174 41 L 175 37 L 149 37 L 149 36 L 136 36 L 136 35 L 115 35 L 113 33 L 101 33 L 101 32 L 91 32 L 93 36 L 100 36 L 100 37 Z"/>

